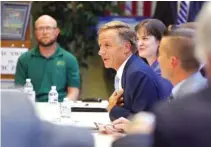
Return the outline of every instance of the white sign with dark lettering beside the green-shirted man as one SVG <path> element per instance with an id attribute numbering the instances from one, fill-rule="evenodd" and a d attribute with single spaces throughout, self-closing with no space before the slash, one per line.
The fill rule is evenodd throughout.
<path id="1" fill-rule="evenodd" d="M 27 48 L 1 48 L 1 74 L 15 74 L 16 64 Z"/>

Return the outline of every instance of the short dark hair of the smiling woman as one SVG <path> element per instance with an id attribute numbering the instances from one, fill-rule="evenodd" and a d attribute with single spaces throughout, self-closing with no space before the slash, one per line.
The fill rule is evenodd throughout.
<path id="1" fill-rule="evenodd" d="M 147 35 L 152 35 L 159 41 L 166 30 L 165 24 L 159 19 L 144 19 L 135 26 L 135 31 L 138 32 L 141 28 L 146 30 Z"/>

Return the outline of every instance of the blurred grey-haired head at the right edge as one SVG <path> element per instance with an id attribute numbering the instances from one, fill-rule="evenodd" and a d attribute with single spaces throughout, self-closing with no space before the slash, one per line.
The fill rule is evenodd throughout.
<path id="1" fill-rule="evenodd" d="M 197 17 L 196 50 L 198 60 L 206 65 L 208 78 L 211 79 L 211 2 L 203 5 Z"/>

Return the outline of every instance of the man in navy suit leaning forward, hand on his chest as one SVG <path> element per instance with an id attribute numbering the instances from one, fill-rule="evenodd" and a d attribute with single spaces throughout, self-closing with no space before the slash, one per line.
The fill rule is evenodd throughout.
<path id="1" fill-rule="evenodd" d="M 152 69 L 133 54 L 137 50 L 136 33 L 126 23 L 112 21 L 99 29 L 98 43 L 105 67 L 117 71 L 108 106 L 111 120 L 149 111 L 160 98 L 160 86 Z M 122 94 L 120 89 L 124 90 L 123 99 L 116 97 Z"/>

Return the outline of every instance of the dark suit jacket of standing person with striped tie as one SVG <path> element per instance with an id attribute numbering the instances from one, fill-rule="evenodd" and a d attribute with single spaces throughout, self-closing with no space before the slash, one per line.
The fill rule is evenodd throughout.
<path id="1" fill-rule="evenodd" d="M 188 22 L 193 22 L 201 10 L 203 1 L 191 1 L 189 7 Z M 177 1 L 158 1 L 154 18 L 160 19 L 166 26 L 176 24 L 177 21 Z"/>

